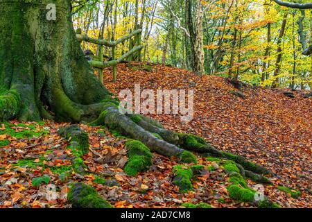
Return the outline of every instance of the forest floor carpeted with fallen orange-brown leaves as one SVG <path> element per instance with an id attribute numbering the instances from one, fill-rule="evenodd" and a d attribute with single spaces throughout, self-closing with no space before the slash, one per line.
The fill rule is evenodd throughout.
<path id="1" fill-rule="evenodd" d="M 311 196 L 311 99 L 306 92 L 245 86 L 245 99 L 225 78 L 200 78 L 189 71 L 165 66 L 119 65 L 119 82 L 112 83 L 112 70 L 105 69 L 105 86 L 116 96 L 121 89 L 194 89 L 193 121 L 182 123 L 178 115 L 152 115 L 166 128 L 194 133 L 216 148 L 243 155 L 277 173 L 265 185 L 265 194 L 281 207 L 312 207 Z M 288 92 L 288 91 L 287 91 Z M 72 182 L 94 187 L 114 207 L 181 207 L 182 203 L 208 203 L 211 207 L 253 207 L 229 198 L 229 178 L 223 167 L 202 173 L 193 180 L 193 191 L 180 194 L 173 185 L 175 160 L 153 153 L 153 166 L 139 176 L 126 176 L 128 160 L 125 139 L 105 127 L 80 124 L 89 133 L 90 152 L 83 157 L 86 173 L 71 167 L 72 153 L 58 129 L 69 123 L 11 121 L 0 127 L 0 206 L 71 207 L 67 192 Z M 216 164 L 198 156 L 198 164 Z M 248 185 L 255 185 L 248 180 Z M 277 189 L 299 190 L 293 198 Z M 51 192 L 49 189 L 54 189 Z M 56 195 L 51 198 L 51 194 Z"/>

